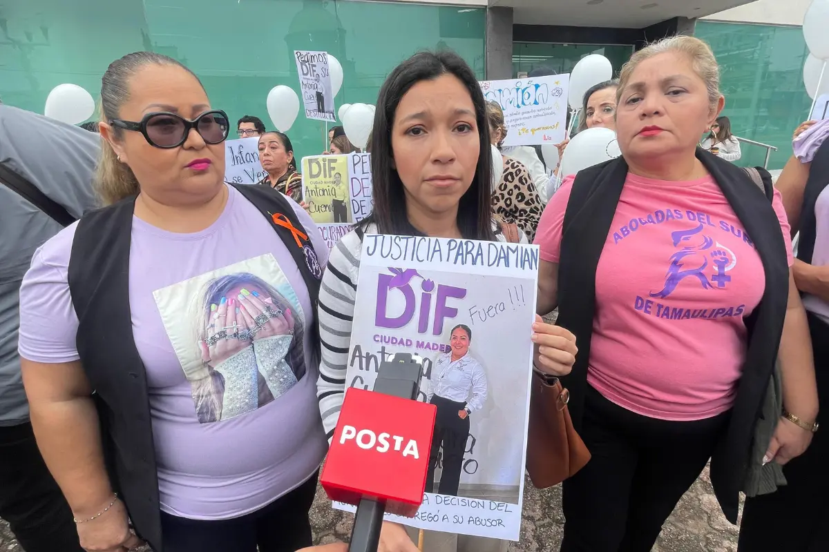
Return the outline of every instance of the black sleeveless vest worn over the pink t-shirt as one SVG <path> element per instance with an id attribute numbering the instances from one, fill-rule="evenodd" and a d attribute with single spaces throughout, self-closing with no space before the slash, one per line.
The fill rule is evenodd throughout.
<path id="1" fill-rule="evenodd" d="M 768 198 L 749 175 L 729 161 L 697 148 L 696 156 L 720 185 L 763 262 L 765 291 L 748 329 L 743 374 L 730 423 L 711 459 L 711 482 L 725 517 L 737 522 L 739 490 L 749 465 L 754 425 L 777 359 L 788 303 L 788 262 L 780 223 Z M 579 345 L 573 372 L 563 378 L 570 390 L 570 415 L 578 430 L 584 411 L 590 338 L 596 310 L 596 267 L 602 255 L 628 164 L 622 157 L 579 171 L 565 212 L 559 262 L 557 324 L 570 329 Z"/>

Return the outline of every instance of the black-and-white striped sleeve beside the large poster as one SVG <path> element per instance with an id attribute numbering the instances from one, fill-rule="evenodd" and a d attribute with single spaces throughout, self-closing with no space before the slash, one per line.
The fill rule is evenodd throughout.
<path id="1" fill-rule="evenodd" d="M 329 442 L 337 427 L 346 391 L 348 347 L 351 344 L 361 247 L 362 242 L 356 232 L 348 233 L 337 242 L 328 257 L 319 290 L 322 362 L 319 366 L 317 399 Z"/>

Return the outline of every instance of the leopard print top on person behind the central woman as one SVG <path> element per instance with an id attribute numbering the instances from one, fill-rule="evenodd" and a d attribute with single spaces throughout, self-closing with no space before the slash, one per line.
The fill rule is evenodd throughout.
<path id="1" fill-rule="evenodd" d="M 501 181 L 492 192 L 492 212 L 504 222 L 516 223 L 532 242 L 544 205 L 526 166 L 509 157 L 504 161 Z"/>

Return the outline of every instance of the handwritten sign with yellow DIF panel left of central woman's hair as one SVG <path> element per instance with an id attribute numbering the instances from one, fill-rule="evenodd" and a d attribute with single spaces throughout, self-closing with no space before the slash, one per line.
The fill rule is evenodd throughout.
<path id="1" fill-rule="evenodd" d="M 303 198 L 329 248 L 371 214 L 371 154 L 303 157 Z"/>

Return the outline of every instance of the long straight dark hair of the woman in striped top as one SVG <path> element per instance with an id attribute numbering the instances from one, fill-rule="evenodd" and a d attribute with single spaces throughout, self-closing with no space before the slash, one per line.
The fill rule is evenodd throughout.
<path id="1" fill-rule="evenodd" d="M 374 130 L 371 134 L 371 175 L 374 209 L 361 223 L 362 229 L 375 223 L 377 231 L 399 236 L 418 236 L 423 233 L 414 228 L 406 212 L 403 182 L 393 167 L 394 152 L 391 149 L 391 130 L 400 99 L 423 80 L 434 80 L 443 74 L 457 77 L 472 96 L 475 106 L 475 120 L 478 124 L 478 138 L 481 151 L 478 167 L 469 190 L 458 204 L 458 229 L 467 239 L 494 241 L 492 231 L 492 149 L 489 144 L 489 123 L 487 107 L 481 87 L 473 70 L 466 61 L 453 51 L 420 52 L 395 67 L 385 79 L 377 109 L 374 114 Z"/>

